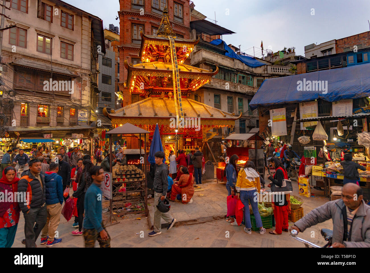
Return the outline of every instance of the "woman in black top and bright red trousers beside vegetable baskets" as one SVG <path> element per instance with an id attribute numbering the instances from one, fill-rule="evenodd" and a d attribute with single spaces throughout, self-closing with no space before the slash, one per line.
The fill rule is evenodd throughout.
<path id="1" fill-rule="evenodd" d="M 272 157 L 270 159 L 270 163 L 272 167 L 275 168 L 276 172 L 273 178 L 269 176 L 269 180 L 271 180 L 271 183 L 275 184 L 277 187 L 281 187 L 283 185 L 283 180 L 288 179 L 287 171 L 282 162 L 276 157 Z M 271 187 L 270 184 L 268 187 Z M 274 210 L 276 224 L 275 230 L 270 231 L 269 233 L 278 235 L 282 234 L 282 231 L 289 231 L 288 214 L 290 213 L 290 194 L 276 193 L 273 196 L 274 202 L 272 203 L 272 208 Z"/>

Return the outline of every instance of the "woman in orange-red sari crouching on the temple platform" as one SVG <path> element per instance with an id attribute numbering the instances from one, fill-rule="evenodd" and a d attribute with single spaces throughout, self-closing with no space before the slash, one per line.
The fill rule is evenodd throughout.
<path id="1" fill-rule="evenodd" d="M 174 182 L 171 189 L 171 198 L 170 201 L 175 201 L 176 195 L 181 194 L 181 200 L 183 204 L 193 203 L 192 197 L 194 195 L 194 177 L 193 174 L 189 174 L 187 167 L 182 168 L 180 180 Z"/>

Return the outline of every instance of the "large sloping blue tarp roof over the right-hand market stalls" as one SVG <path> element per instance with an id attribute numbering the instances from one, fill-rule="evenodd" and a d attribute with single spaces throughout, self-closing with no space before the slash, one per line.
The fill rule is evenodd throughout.
<path id="1" fill-rule="evenodd" d="M 317 81 L 324 85 L 320 88 Z M 333 102 L 367 96 L 370 96 L 370 63 L 267 79 L 263 81 L 249 106 L 255 109 L 258 106 L 315 99 Z"/>

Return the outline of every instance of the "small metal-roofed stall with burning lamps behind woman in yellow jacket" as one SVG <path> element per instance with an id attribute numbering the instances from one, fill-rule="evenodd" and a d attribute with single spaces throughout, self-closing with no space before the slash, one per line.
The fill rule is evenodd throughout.
<path id="1" fill-rule="evenodd" d="M 263 141 L 263 138 L 257 134 L 231 134 L 225 139 L 229 144 L 229 147 L 226 149 L 227 157 L 230 158 L 233 154 L 236 154 L 239 157 L 238 161 L 236 162 L 237 167 L 243 168 L 245 162 L 251 160 L 255 164 L 256 170 L 261 174 L 263 173 L 263 149 L 257 149 L 257 147 L 260 145 L 258 141 Z M 218 167 L 216 168 L 217 182 L 226 182 L 226 176 L 223 174 L 225 165 L 226 162 L 218 163 Z"/>

